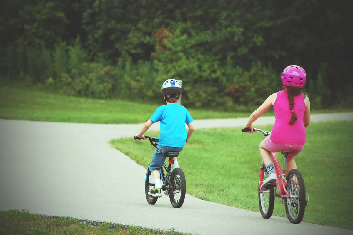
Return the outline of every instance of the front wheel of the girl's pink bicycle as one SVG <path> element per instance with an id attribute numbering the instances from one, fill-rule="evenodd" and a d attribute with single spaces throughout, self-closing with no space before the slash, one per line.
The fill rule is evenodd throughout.
<path id="1" fill-rule="evenodd" d="M 264 171 L 264 180 L 268 177 L 268 173 L 265 170 Z M 260 182 L 260 177 L 259 177 L 259 184 Z M 264 219 L 269 219 L 272 216 L 273 209 L 275 206 L 275 188 L 270 188 L 267 191 L 262 191 L 259 189 L 259 185 L 257 185 L 257 190 L 259 192 L 259 208 L 260 208 L 260 213 L 261 216 Z"/>

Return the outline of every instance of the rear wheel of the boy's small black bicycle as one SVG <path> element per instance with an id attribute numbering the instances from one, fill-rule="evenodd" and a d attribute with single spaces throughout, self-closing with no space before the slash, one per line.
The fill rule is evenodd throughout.
<path id="1" fill-rule="evenodd" d="M 185 199 L 186 192 L 186 180 L 185 174 L 182 169 L 175 168 L 170 174 L 170 191 L 169 199 L 170 203 L 175 208 L 180 208 Z"/>

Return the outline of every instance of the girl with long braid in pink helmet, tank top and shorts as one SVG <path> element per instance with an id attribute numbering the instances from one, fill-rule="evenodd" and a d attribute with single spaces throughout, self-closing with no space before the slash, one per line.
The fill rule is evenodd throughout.
<path id="1" fill-rule="evenodd" d="M 273 106 L 275 124 L 272 133 L 260 143 L 260 154 L 265 163 L 268 178 L 261 185 L 275 182 L 276 174 L 273 165 L 272 153 L 281 150 L 292 150 L 291 160 L 287 162 L 287 171 L 297 169 L 294 156 L 304 148 L 306 142 L 305 128 L 310 123 L 309 97 L 301 92 L 306 81 L 303 68 L 297 65 L 287 66 L 282 72 L 283 91 L 271 94 L 249 117 L 244 128 L 250 128 L 253 134 L 252 123 Z"/>

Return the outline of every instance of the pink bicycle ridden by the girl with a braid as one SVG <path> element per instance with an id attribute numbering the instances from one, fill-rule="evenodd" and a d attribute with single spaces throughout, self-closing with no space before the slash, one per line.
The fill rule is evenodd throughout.
<path id="1" fill-rule="evenodd" d="M 241 129 L 242 132 L 250 131 L 249 128 Z M 263 131 L 261 129 L 253 128 L 253 131 L 259 131 L 264 136 L 268 136 L 271 132 Z M 277 181 L 268 183 L 265 187 L 267 191 L 261 190 L 262 181 L 268 177 L 268 173 L 264 162 L 261 160 L 260 174 L 259 174 L 259 206 L 263 218 L 268 219 L 272 216 L 275 197 L 280 198 L 280 203 L 285 205 L 286 213 L 289 221 L 294 224 L 299 224 L 304 217 L 305 206 L 309 201 L 309 195 L 305 193 L 304 179 L 297 169 L 291 169 L 287 172 L 287 161 L 291 159 L 293 151 L 284 150 L 283 154 L 283 168 L 277 159 L 276 153 L 272 153 Z M 307 196 L 307 200 L 306 200 Z"/>

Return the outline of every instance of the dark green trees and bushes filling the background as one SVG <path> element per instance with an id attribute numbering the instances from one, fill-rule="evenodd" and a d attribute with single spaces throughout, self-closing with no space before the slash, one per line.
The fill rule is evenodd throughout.
<path id="1" fill-rule="evenodd" d="M 249 110 L 299 64 L 313 107 L 351 107 L 352 1 L 7 0 L 1 80 L 96 98 Z"/>

